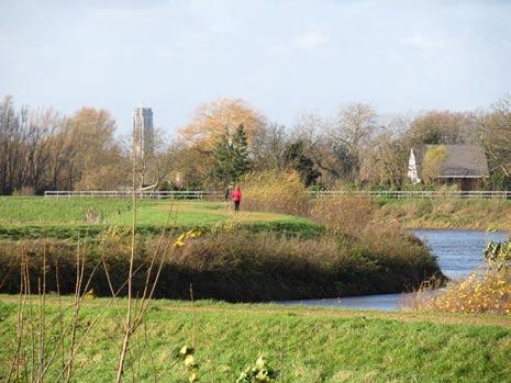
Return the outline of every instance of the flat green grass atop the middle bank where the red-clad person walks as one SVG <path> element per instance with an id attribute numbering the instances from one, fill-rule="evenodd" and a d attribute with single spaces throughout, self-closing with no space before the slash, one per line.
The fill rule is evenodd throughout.
<path id="1" fill-rule="evenodd" d="M 90 207 L 100 214 L 100 223 L 86 222 Z M 0 198 L 0 238 L 75 238 L 78 234 L 96 235 L 109 225 L 130 225 L 131 218 L 131 201 L 126 199 Z M 230 221 L 253 232 L 311 237 L 322 230 L 309 219 L 286 214 L 242 211 L 234 216 L 222 202 L 138 201 L 137 228 L 143 234 L 157 234 L 167 224 L 185 230 Z"/>

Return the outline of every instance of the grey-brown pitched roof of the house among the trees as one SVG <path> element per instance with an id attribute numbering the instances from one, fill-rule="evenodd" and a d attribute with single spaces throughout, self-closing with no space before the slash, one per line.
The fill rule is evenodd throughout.
<path id="1" fill-rule="evenodd" d="M 444 146 L 447 154 L 440 166 L 440 178 L 479 178 L 488 177 L 488 161 L 485 150 L 476 145 L 423 145 L 414 147 L 418 172 L 421 173 L 422 160 L 427 149 Z"/>

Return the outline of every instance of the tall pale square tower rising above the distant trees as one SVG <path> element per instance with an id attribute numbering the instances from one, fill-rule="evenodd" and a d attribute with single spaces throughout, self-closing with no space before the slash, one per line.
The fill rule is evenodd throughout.
<path id="1" fill-rule="evenodd" d="M 133 112 L 133 156 L 146 159 L 154 153 L 153 110 L 136 108 Z"/>

